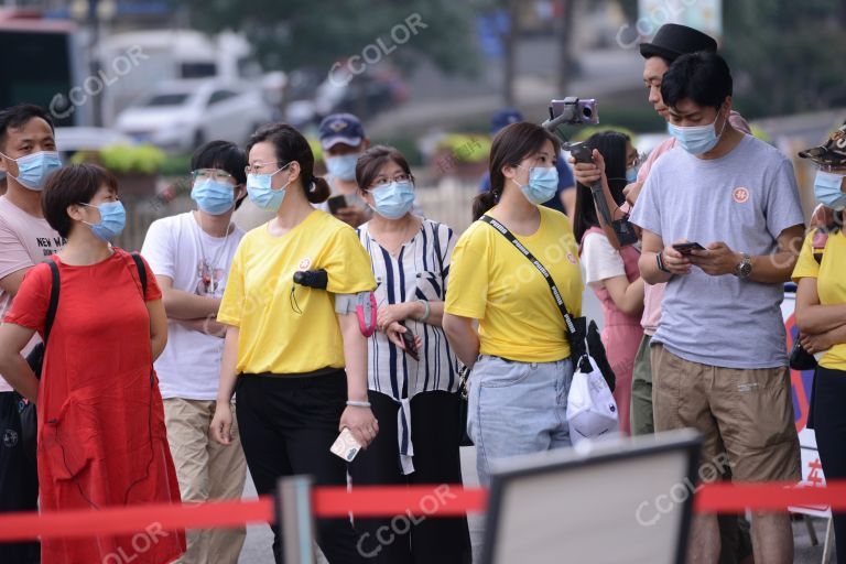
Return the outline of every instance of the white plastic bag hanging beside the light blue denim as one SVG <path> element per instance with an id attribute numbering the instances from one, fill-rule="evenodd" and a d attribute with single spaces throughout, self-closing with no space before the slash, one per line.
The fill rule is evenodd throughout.
<path id="1" fill-rule="evenodd" d="M 585 372 L 582 367 L 588 364 L 590 371 Z M 620 427 L 617 402 L 594 359 L 585 356 L 578 367 L 567 395 L 567 423 L 574 445 L 586 438 L 608 435 Z"/>

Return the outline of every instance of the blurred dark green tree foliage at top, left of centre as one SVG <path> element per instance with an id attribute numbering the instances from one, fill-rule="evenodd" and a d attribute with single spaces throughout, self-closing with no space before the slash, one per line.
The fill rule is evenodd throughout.
<path id="1" fill-rule="evenodd" d="M 425 55 L 445 72 L 473 73 L 474 6 L 451 0 L 172 0 L 187 8 L 193 26 L 208 32 L 235 30 L 252 42 L 267 69 L 291 70 L 312 66 L 328 72 L 337 62 L 361 55 L 381 44 L 384 55 L 400 68 Z M 391 39 L 397 25 L 419 21 L 411 37 L 399 45 Z M 402 32 L 400 32 L 402 33 Z M 404 34 L 398 34 L 404 37 Z M 397 47 L 391 50 L 391 47 Z M 380 47 L 381 48 L 381 47 Z M 387 53 L 390 51 L 390 53 Z"/>

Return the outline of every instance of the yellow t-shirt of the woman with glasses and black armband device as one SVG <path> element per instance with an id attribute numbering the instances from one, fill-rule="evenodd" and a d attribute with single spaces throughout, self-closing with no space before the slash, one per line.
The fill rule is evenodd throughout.
<path id="1" fill-rule="evenodd" d="M 325 291 L 294 284 L 294 272 L 316 269 L 328 273 Z M 356 232 L 315 210 L 282 237 L 271 236 L 267 224 L 243 237 L 217 321 L 240 327 L 239 373 L 343 368 L 334 294 L 373 289 L 370 257 Z"/>

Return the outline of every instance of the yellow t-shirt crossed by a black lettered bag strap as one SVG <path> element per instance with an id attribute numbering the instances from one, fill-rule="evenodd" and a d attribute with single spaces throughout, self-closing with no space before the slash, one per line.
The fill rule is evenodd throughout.
<path id="1" fill-rule="evenodd" d="M 564 214 L 540 206 L 541 226 L 517 237 L 550 271 L 574 317 L 582 315 L 578 246 Z M 494 208 L 496 215 L 496 208 Z M 449 267 L 446 312 L 479 319 L 480 352 L 521 362 L 570 356 L 566 327 L 546 280 L 492 226 L 474 223 Z"/>

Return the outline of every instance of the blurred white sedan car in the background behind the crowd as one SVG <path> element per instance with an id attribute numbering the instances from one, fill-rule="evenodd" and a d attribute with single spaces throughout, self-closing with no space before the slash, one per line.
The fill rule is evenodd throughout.
<path id="1" fill-rule="evenodd" d="M 260 89 L 216 79 L 174 80 L 121 111 L 116 129 L 139 143 L 191 152 L 214 139 L 243 143 L 272 118 Z"/>

